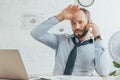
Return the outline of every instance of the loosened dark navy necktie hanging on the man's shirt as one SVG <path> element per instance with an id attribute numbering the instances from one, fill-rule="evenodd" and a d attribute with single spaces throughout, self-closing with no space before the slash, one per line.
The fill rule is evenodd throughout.
<path id="1" fill-rule="evenodd" d="M 63 75 L 72 75 L 75 60 L 76 60 L 76 56 L 77 56 L 77 47 L 79 47 L 81 45 L 86 45 L 86 44 L 89 44 L 89 43 L 93 43 L 92 39 L 86 40 L 83 43 L 81 43 L 81 42 L 76 43 L 75 37 L 72 37 L 72 41 L 75 44 L 75 46 L 71 50 L 70 55 L 68 56 L 68 60 L 67 60 L 66 67 L 65 67 Z"/>

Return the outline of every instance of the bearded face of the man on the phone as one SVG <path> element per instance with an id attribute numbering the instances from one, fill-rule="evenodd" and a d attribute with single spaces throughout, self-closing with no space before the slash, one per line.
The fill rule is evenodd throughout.
<path id="1" fill-rule="evenodd" d="M 83 38 L 87 34 L 87 23 L 88 19 L 83 11 L 79 11 L 73 16 L 73 19 L 71 20 L 72 30 L 78 39 Z"/>

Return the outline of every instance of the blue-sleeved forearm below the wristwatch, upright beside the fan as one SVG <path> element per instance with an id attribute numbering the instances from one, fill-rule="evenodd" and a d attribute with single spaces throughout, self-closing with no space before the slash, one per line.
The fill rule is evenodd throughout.
<path id="1" fill-rule="evenodd" d="M 110 64 L 104 53 L 104 48 L 102 47 L 102 41 L 95 41 L 95 68 L 100 76 L 107 76 L 110 70 Z"/>

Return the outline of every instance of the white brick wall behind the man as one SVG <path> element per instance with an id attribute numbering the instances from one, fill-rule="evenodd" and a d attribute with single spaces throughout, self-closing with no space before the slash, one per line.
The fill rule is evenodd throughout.
<path id="1" fill-rule="evenodd" d="M 0 49 L 19 49 L 29 74 L 52 74 L 55 51 L 30 36 L 32 28 L 25 29 L 22 26 L 22 16 L 42 14 L 41 23 L 73 3 L 77 3 L 77 0 L 0 0 Z M 87 8 L 93 21 L 100 27 L 110 61 L 108 40 L 120 29 L 119 3 L 119 0 L 95 0 L 95 3 Z M 64 32 L 71 33 L 71 30 L 68 30 L 70 24 L 66 22 L 58 24 L 50 32 L 60 33 L 58 29 L 65 26 Z"/>

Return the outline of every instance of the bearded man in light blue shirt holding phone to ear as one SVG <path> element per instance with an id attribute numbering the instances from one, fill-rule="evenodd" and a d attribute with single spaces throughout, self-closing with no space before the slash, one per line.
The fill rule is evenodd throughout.
<path id="1" fill-rule="evenodd" d="M 50 34 L 54 25 L 70 20 L 73 35 Z M 92 27 L 91 39 L 89 29 Z M 32 30 L 38 41 L 56 50 L 54 75 L 92 75 L 94 69 L 100 76 L 109 73 L 99 28 L 90 21 L 90 13 L 78 5 L 69 5 L 57 16 L 50 17 Z"/>

